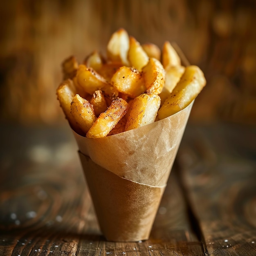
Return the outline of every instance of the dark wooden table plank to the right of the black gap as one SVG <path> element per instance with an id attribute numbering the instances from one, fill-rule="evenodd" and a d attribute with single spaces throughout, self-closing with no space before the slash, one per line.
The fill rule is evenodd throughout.
<path id="1" fill-rule="evenodd" d="M 190 127 L 177 157 L 209 255 L 256 255 L 255 128 Z"/>

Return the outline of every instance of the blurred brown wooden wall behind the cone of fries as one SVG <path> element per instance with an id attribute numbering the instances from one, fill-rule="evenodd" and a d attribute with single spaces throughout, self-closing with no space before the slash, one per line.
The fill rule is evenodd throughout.
<path id="1" fill-rule="evenodd" d="M 9 0 L 0 2 L 0 116 L 66 124 L 56 100 L 61 62 L 105 53 L 123 27 L 140 43 L 175 41 L 207 86 L 190 121 L 256 123 L 255 0 Z"/>

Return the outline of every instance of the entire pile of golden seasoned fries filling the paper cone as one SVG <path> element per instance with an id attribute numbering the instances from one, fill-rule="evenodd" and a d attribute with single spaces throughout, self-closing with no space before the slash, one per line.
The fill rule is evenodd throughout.
<path id="1" fill-rule="evenodd" d="M 94 51 L 81 65 L 74 56 L 62 63 L 65 81 L 57 88 L 58 100 L 72 129 L 88 138 L 127 132 L 173 115 L 206 84 L 202 70 L 182 66 L 168 41 L 161 52 L 119 29 L 106 53 L 104 58 Z"/>

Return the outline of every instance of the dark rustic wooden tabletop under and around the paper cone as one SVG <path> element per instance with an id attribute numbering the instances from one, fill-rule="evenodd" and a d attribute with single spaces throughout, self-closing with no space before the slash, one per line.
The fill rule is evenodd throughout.
<path id="1" fill-rule="evenodd" d="M 147 241 L 99 231 L 67 128 L 1 125 L 0 255 L 256 255 L 256 129 L 186 128 Z"/>

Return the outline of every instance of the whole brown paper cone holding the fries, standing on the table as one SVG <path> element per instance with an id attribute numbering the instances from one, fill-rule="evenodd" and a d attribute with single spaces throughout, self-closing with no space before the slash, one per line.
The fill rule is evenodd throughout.
<path id="1" fill-rule="evenodd" d="M 91 139 L 74 132 L 107 240 L 148 239 L 192 105 L 160 121 L 109 137 Z"/>

